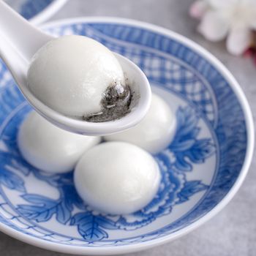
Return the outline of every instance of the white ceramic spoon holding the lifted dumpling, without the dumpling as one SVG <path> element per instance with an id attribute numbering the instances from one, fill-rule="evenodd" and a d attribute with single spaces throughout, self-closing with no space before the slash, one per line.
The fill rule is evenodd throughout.
<path id="1" fill-rule="evenodd" d="M 92 123 L 69 118 L 43 104 L 29 91 L 26 74 L 29 62 L 42 45 L 53 39 L 31 26 L 17 12 L 0 0 L 0 56 L 10 69 L 20 91 L 42 116 L 58 127 L 84 135 L 108 135 L 135 126 L 146 115 L 151 102 L 151 89 L 146 75 L 129 59 L 116 54 L 127 78 L 138 86 L 140 99 L 131 113 L 114 121 Z"/>

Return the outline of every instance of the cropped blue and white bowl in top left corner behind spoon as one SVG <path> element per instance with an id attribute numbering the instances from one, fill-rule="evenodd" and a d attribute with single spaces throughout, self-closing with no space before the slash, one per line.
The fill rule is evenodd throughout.
<path id="1" fill-rule="evenodd" d="M 50 16 L 66 3 L 67 0 L 4 0 L 16 12 L 31 23 L 39 24 L 48 20 Z"/>

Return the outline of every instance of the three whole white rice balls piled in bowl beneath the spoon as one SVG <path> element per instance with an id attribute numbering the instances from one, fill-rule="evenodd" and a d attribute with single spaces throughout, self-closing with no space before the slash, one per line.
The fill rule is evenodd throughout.
<path id="1" fill-rule="evenodd" d="M 176 118 L 167 102 L 152 94 L 151 107 L 135 127 L 103 138 L 54 126 L 38 113 L 26 116 L 18 132 L 23 158 L 39 170 L 75 170 L 78 195 L 106 214 L 131 214 L 157 193 L 161 174 L 151 154 L 173 140 Z"/>

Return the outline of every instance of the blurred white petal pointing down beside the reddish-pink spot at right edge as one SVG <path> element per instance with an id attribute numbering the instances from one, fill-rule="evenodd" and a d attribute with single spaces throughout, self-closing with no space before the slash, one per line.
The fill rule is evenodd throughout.
<path id="1" fill-rule="evenodd" d="M 252 43 L 252 31 L 248 28 L 233 28 L 227 37 L 227 50 L 233 55 L 241 55 Z"/>

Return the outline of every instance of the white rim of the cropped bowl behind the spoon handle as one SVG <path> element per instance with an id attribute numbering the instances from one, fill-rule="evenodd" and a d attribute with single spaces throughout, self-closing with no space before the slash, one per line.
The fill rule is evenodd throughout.
<path id="1" fill-rule="evenodd" d="M 67 0 L 53 0 L 47 7 L 45 7 L 42 11 L 38 12 L 32 18 L 29 19 L 31 23 L 34 25 L 38 25 L 45 20 L 48 20 L 51 16 L 53 16 L 56 12 L 58 12 L 61 7 L 66 4 Z"/>

